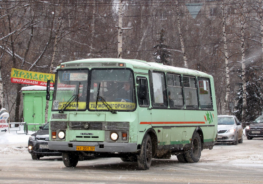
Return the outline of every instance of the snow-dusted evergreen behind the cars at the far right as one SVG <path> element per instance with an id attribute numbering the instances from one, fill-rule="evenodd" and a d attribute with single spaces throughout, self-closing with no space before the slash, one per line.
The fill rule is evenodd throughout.
<path id="1" fill-rule="evenodd" d="M 248 67 L 246 68 L 246 93 L 247 104 L 245 112 L 245 121 L 254 121 L 259 115 L 262 114 L 263 108 L 263 90 L 262 81 L 263 77 L 258 76 L 258 69 Z M 236 95 L 237 104 L 234 114 L 241 120 L 242 117 L 242 83 L 239 83 L 239 91 Z"/>

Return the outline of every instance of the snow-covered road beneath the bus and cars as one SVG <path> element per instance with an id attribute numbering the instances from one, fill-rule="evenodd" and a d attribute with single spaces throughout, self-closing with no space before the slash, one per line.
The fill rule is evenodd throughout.
<path id="1" fill-rule="evenodd" d="M 1 183 L 262 183 L 263 138 L 238 145 L 216 144 L 203 150 L 197 163 L 153 159 L 150 170 L 137 170 L 136 162 L 119 158 L 79 161 L 67 168 L 61 157 L 32 160 L 27 152 L 28 135 L 19 141 L 0 138 Z M 23 137 L 23 138 L 22 138 Z M 25 142 L 26 140 L 26 142 Z"/>

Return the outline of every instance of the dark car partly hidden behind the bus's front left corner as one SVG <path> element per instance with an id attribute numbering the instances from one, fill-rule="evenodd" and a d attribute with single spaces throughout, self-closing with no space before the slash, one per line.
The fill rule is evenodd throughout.
<path id="1" fill-rule="evenodd" d="M 61 156 L 60 152 L 48 149 L 49 123 L 44 126 L 39 126 L 39 130 L 32 134 L 28 140 L 28 152 L 31 154 L 32 159 L 36 160 L 43 156 Z"/>

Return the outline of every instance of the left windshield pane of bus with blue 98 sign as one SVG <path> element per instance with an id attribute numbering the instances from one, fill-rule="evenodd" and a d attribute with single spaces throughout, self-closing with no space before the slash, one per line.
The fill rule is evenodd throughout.
<path id="1" fill-rule="evenodd" d="M 52 110 L 84 110 L 87 104 L 88 70 L 59 70 Z"/>

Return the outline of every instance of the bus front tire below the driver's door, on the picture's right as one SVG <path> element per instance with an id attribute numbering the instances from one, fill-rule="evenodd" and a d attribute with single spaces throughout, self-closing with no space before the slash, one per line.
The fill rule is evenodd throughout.
<path id="1" fill-rule="evenodd" d="M 140 170 L 148 170 L 150 168 L 152 152 L 151 137 L 147 134 L 141 144 L 141 151 L 137 155 L 137 163 Z"/>

